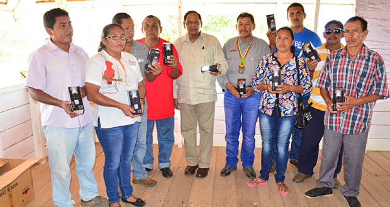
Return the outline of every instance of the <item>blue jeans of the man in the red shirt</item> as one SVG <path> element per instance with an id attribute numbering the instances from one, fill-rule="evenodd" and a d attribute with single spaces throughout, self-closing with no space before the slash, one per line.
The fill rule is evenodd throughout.
<path id="1" fill-rule="evenodd" d="M 158 141 L 158 168 L 171 166 L 171 153 L 174 143 L 173 127 L 174 117 L 159 120 L 148 120 L 148 130 L 146 134 L 146 154 L 144 158 L 144 166 L 150 169 L 153 168 L 153 128 L 154 122 L 157 127 Z"/>

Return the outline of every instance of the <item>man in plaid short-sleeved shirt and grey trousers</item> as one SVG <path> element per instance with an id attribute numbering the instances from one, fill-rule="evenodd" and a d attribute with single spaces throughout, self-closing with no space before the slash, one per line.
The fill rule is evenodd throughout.
<path id="1" fill-rule="evenodd" d="M 333 173 L 344 144 L 344 179 L 340 188 L 350 207 L 360 207 L 356 198 L 362 178 L 368 130 L 376 100 L 388 98 L 388 83 L 382 57 L 363 43 L 368 35 L 367 21 L 352 17 L 345 24 L 347 46 L 329 54 L 317 87 L 327 107 L 323 160 L 317 187 L 305 192 L 308 198 L 331 195 Z M 332 109 L 330 94 L 344 90 L 345 102 Z"/>

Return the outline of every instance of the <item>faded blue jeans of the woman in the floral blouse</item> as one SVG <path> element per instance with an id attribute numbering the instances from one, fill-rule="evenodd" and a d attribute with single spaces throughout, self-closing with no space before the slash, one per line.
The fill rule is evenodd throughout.
<path id="1" fill-rule="evenodd" d="M 260 179 L 268 180 L 269 169 L 273 157 L 274 145 L 278 150 L 276 156 L 277 183 L 284 182 L 284 172 L 287 168 L 288 145 L 297 116 L 271 117 L 260 112 L 260 131 L 262 138 Z"/>

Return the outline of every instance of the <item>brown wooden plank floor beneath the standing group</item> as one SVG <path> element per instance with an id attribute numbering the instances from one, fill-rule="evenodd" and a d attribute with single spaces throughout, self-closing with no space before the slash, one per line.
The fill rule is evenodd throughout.
<path id="1" fill-rule="evenodd" d="M 153 147 L 155 157 L 157 147 Z M 102 147 L 96 145 L 96 165 L 94 172 L 99 185 L 99 194 L 107 197 L 103 180 L 104 154 Z M 254 168 L 260 170 L 261 149 L 255 150 Z M 225 165 L 225 147 L 214 147 L 209 175 L 204 179 L 184 175 L 187 162 L 184 159 L 184 148 L 173 147 L 171 157 L 173 178 L 167 179 L 157 169 L 149 176 L 158 184 L 147 188 L 133 185 L 134 195 L 144 199 L 148 207 L 347 207 L 347 202 L 339 192 L 334 190 L 330 197 L 307 199 L 303 193 L 315 187 L 319 175 L 319 165 L 314 169 L 314 176 L 305 182 L 292 182 L 297 168 L 288 166 L 285 173 L 285 183 L 290 187 L 290 194 L 282 196 L 278 193 L 274 176 L 270 176 L 265 186 L 249 188 L 248 178 L 242 171 L 241 163 L 230 176 L 221 177 L 220 170 Z M 320 162 L 320 158 L 319 158 Z M 79 183 L 75 171 L 75 163 L 71 163 L 72 179 L 70 191 L 76 207 L 81 206 L 79 198 Z M 342 169 L 343 170 L 343 169 Z M 50 169 L 48 164 L 34 166 L 32 169 L 36 197 L 27 207 L 52 207 Z M 360 186 L 359 200 L 363 207 L 390 207 L 390 152 L 369 151 L 364 160 L 363 176 Z M 343 171 L 339 174 L 340 182 L 344 183 Z M 127 207 L 131 205 L 122 204 Z"/>

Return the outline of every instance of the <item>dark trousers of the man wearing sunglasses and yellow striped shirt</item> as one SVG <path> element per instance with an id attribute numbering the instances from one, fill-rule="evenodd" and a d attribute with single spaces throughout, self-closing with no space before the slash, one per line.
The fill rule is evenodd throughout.
<path id="1" fill-rule="evenodd" d="M 306 175 L 313 175 L 313 169 L 317 164 L 318 150 L 320 141 L 324 135 L 324 111 L 309 106 L 312 119 L 303 129 L 303 137 L 298 157 L 298 171 Z M 343 145 L 340 149 L 339 160 L 333 177 L 341 171 L 343 160 Z"/>

